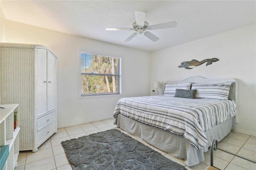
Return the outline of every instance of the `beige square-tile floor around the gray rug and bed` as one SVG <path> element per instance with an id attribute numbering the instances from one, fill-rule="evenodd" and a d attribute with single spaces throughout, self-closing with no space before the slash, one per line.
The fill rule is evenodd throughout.
<path id="1" fill-rule="evenodd" d="M 72 170 L 60 142 L 108 130 L 110 128 L 116 128 L 116 125 L 113 125 L 113 122 L 114 119 L 107 119 L 104 121 L 59 128 L 58 132 L 50 137 L 50 139 L 46 140 L 46 142 L 38 148 L 37 152 L 21 151 L 18 156 L 18 166 L 15 170 Z M 118 129 L 121 130 L 120 128 Z M 124 130 L 121 131 L 128 134 Z M 147 142 L 134 136 L 132 137 L 160 152 L 170 160 L 186 166 L 186 164 L 184 164 L 184 160 L 174 158 L 166 152 L 154 148 L 154 146 L 151 146 Z M 255 136 L 230 132 L 221 142 L 218 143 L 218 147 L 256 161 Z M 210 165 L 210 152 L 208 151 L 204 153 L 204 156 L 204 162 L 192 167 L 186 166 L 186 168 L 188 170 L 205 170 L 208 165 Z M 214 151 L 214 166 L 221 170 L 256 170 L 255 163 L 220 150 Z"/>

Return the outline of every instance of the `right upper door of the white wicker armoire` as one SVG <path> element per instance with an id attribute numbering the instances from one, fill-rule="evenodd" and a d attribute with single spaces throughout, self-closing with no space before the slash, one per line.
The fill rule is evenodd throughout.
<path id="1" fill-rule="evenodd" d="M 48 51 L 47 60 L 47 105 L 48 111 L 56 109 L 56 58 Z"/>

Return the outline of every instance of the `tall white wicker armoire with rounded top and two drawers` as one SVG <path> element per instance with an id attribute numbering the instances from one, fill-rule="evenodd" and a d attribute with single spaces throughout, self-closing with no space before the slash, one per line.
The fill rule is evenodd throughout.
<path id="1" fill-rule="evenodd" d="M 57 131 L 56 55 L 42 45 L 0 43 L 1 104 L 19 104 L 20 150 Z"/>

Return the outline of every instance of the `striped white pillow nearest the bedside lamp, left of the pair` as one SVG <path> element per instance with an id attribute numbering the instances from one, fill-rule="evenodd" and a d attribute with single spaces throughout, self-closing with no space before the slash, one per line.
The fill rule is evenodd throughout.
<path id="1" fill-rule="evenodd" d="M 164 89 L 163 95 L 174 96 L 176 89 L 189 90 L 190 87 L 191 87 L 191 83 L 174 84 L 174 85 L 165 83 L 165 89 Z"/>

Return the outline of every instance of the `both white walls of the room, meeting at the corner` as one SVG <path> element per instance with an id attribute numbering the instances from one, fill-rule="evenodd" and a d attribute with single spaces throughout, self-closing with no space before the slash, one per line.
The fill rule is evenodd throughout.
<path id="1" fill-rule="evenodd" d="M 1 20 L 2 27 L 2 42 L 45 45 L 58 55 L 58 128 L 110 118 L 116 102 L 121 98 L 78 99 L 81 48 L 122 57 L 122 97 L 149 95 L 154 89 L 154 81 L 161 82 L 162 90 L 168 80 L 186 79 L 194 75 L 235 78 L 238 81 L 239 121 L 236 131 L 256 136 L 255 24 L 151 54 L 9 20 Z M 201 61 L 213 57 L 220 61 L 207 67 L 204 63 L 190 70 L 178 68 L 182 61 Z"/>

